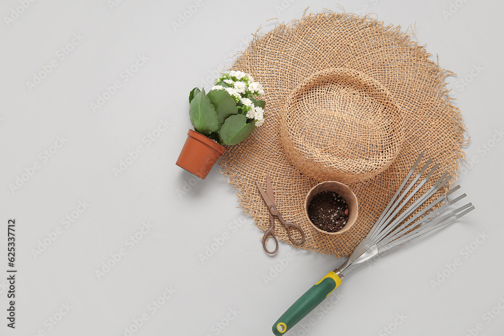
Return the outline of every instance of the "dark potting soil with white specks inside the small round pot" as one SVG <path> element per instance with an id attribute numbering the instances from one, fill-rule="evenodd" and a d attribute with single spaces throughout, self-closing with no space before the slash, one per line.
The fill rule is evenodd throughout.
<path id="1" fill-rule="evenodd" d="M 319 229 L 337 232 L 343 229 L 348 221 L 348 207 L 343 197 L 334 191 L 326 190 L 313 196 L 308 205 L 308 217 Z"/>

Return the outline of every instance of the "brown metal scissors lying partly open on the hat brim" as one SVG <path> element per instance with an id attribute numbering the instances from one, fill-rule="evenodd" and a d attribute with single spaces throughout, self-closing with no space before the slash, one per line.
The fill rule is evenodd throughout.
<path id="1" fill-rule="evenodd" d="M 268 206 L 268 210 L 270 211 L 270 223 L 271 223 L 270 224 L 270 228 L 268 230 L 266 230 L 266 232 L 264 233 L 264 236 L 263 236 L 263 247 L 264 247 L 264 250 L 267 253 L 269 253 L 269 254 L 274 254 L 278 250 L 278 240 L 277 240 L 277 237 L 275 236 L 275 219 L 274 219 L 274 216 L 276 216 L 278 218 L 278 220 L 280 221 L 280 223 L 287 230 L 287 236 L 289 237 L 289 240 L 290 240 L 290 242 L 292 244 L 299 246 L 302 243 L 304 243 L 304 232 L 299 227 L 299 225 L 291 223 L 291 222 L 284 221 L 284 219 L 282 218 L 282 215 L 280 215 L 280 213 L 278 212 L 277 207 L 275 205 L 275 195 L 273 194 L 273 187 L 271 185 L 271 179 L 270 179 L 270 177 L 266 176 L 266 190 L 268 191 L 268 193 L 266 193 L 264 191 L 264 189 L 259 185 L 258 181 L 256 181 L 256 180 L 254 180 L 254 181 L 256 182 L 257 188 L 259 189 L 259 192 L 261 193 L 261 196 L 263 196 L 264 202 L 266 203 L 266 205 Z M 292 228 L 298 230 L 301 233 L 301 241 L 295 241 L 295 240 L 292 239 L 292 237 L 290 235 L 290 230 Z M 268 241 L 268 238 L 270 238 L 270 236 L 273 237 L 273 239 L 275 239 L 276 248 L 275 248 L 274 251 L 269 251 L 268 248 L 266 248 L 266 241 Z"/>

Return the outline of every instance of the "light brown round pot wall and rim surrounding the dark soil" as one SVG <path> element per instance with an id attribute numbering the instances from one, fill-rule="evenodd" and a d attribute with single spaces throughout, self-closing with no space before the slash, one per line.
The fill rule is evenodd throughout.
<path id="1" fill-rule="evenodd" d="M 311 199 L 317 195 L 318 193 L 321 193 L 323 191 L 333 191 L 339 194 L 346 202 L 348 206 L 348 221 L 345 224 L 345 226 L 340 230 L 336 232 L 327 232 L 324 230 L 319 229 L 317 226 L 315 226 L 313 223 L 311 223 L 310 218 L 308 217 L 308 205 L 310 204 Z M 359 203 L 357 201 L 357 196 L 353 193 L 353 191 L 346 185 L 340 182 L 336 181 L 327 181 L 327 182 L 322 182 L 311 188 L 311 190 L 308 192 L 306 195 L 306 200 L 304 201 L 304 213 L 306 215 L 306 218 L 308 219 L 308 222 L 310 222 L 311 226 L 316 228 L 320 232 L 324 232 L 330 235 L 337 235 L 337 234 L 342 234 L 345 231 L 350 230 L 350 228 L 353 226 L 355 221 L 357 220 L 357 215 L 359 213 Z"/>

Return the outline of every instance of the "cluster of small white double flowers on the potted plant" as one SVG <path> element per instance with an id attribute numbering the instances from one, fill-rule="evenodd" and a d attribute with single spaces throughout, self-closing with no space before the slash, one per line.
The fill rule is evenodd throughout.
<path id="1" fill-rule="evenodd" d="M 264 88 L 258 82 L 254 82 L 252 76 L 234 70 L 223 72 L 215 80 L 212 90 L 226 90 L 241 109 L 242 114 L 255 120 L 256 126 L 264 123 L 264 110 L 257 105 L 258 102 L 263 102 L 257 99 L 264 95 Z"/>

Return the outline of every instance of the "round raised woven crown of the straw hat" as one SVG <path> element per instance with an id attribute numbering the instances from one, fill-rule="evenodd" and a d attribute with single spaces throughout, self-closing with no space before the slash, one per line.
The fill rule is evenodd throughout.
<path id="1" fill-rule="evenodd" d="M 404 141 L 403 115 L 392 95 L 351 69 L 327 69 L 301 82 L 280 117 L 287 157 L 319 181 L 372 178 L 392 164 Z"/>

